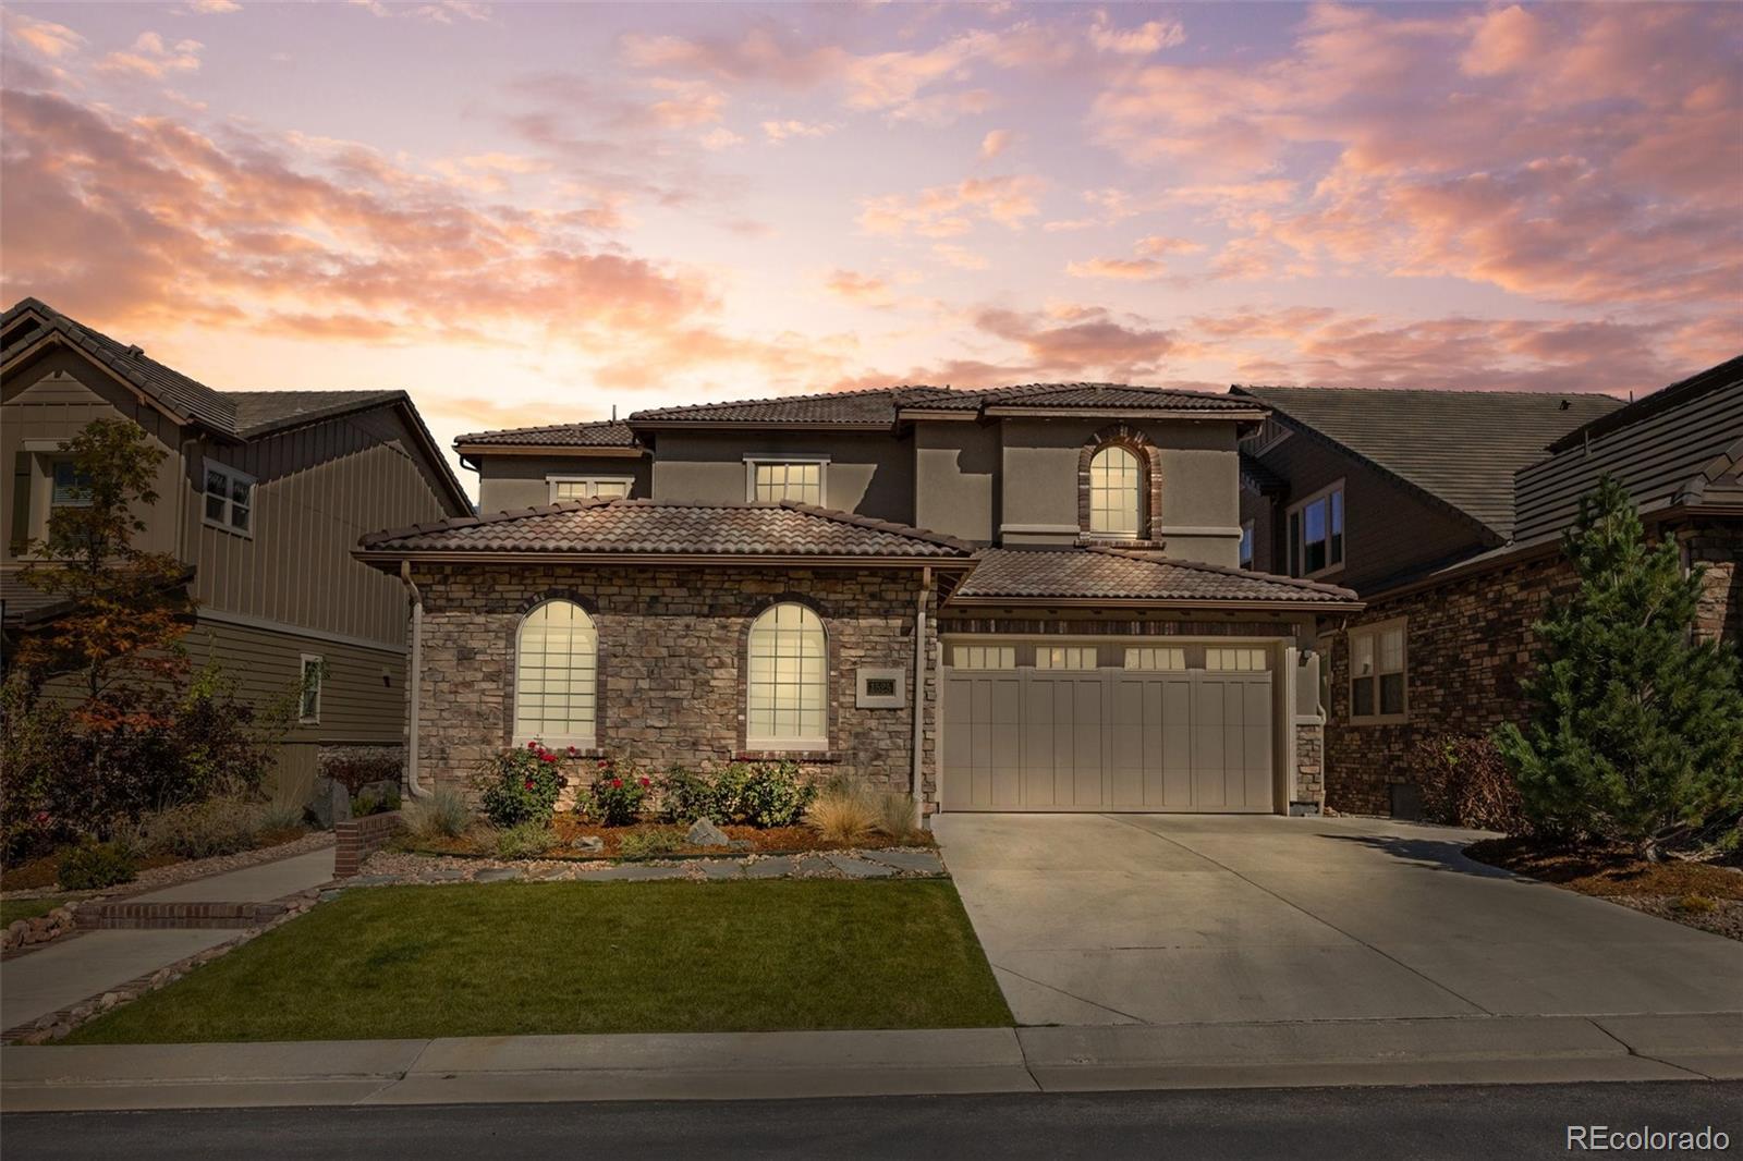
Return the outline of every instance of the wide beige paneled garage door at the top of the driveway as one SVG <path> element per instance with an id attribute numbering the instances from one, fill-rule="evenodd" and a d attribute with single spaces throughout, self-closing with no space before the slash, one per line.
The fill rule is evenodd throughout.
<path id="1" fill-rule="evenodd" d="M 1272 811 L 1265 669 L 945 666 L 941 718 L 946 811 Z"/>

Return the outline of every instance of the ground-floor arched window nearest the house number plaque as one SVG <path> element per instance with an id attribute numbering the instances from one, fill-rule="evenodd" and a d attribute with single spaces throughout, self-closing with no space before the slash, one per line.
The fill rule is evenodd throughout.
<path id="1" fill-rule="evenodd" d="M 765 608 L 751 622 L 748 652 L 744 744 L 826 750 L 830 645 L 817 614 L 791 601 Z"/>

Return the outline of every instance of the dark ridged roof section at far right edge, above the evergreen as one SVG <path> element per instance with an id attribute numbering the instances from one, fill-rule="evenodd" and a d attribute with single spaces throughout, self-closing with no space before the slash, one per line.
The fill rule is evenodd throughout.
<path id="1" fill-rule="evenodd" d="M 1642 513 L 1699 504 L 1743 462 L 1743 356 L 1590 422 L 1518 472 L 1520 542 L 1555 537 L 1614 476 Z M 1743 495 L 1736 499 L 1743 500 Z"/>

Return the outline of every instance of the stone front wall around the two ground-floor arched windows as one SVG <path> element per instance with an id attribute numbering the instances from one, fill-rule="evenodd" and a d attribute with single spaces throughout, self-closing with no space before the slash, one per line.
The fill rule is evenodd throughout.
<path id="1" fill-rule="evenodd" d="M 654 769 L 746 757 L 744 652 L 751 621 L 795 600 L 823 619 L 830 648 L 826 753 L 795 753 L 887 790 L 912 786 L 913 706 L 936 701 L 936 675 L 899 710 L 856 708 L 861 666 L 913 673 L 920 572 L 666 565 L 424 565 L 420 779 L 465 786 L 478 762 L 512 744 L 514 638 L 549 598 L 573 600 L 598 631 L 598 750 Z M 927 654 L 936 640 L 936 589 Z M 926 800 L 934 797 L 934 715 L 924 718 Z M 749 755 L 776 757 L 776 755 Z"/>

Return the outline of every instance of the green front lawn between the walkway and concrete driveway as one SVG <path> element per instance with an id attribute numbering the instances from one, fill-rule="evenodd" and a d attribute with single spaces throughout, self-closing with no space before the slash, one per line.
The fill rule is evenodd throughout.
<path id="1" fill-rule="evenodd" d="M 955 886 L 371 887 L 68 1044 L 1011 1023 Z"/>

